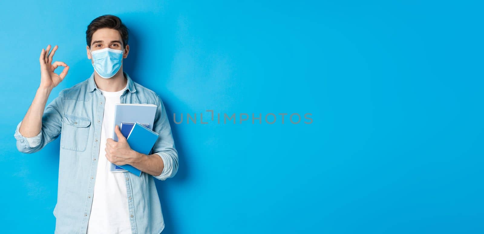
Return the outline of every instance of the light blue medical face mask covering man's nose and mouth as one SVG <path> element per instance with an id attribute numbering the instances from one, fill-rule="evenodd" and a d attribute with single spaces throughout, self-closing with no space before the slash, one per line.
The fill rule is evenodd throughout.
<path id="1" fill-rule="evenodd" d="M 89 49 L 91 51 L 91 49 Z M 104 48 L 91 51 L 92 66 L 94 70 L 103 78 L 113 77 L 121 68 L 123 50 Z"/>

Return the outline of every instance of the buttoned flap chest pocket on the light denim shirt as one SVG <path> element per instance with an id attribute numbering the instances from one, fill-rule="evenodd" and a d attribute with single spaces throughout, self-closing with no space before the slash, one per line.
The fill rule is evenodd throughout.
<path id="1" fill-rule="evenodd" d="M 73 151 L 86 151 L 91 119 L 64 115 L 62 123 L 61 147 Z"/>

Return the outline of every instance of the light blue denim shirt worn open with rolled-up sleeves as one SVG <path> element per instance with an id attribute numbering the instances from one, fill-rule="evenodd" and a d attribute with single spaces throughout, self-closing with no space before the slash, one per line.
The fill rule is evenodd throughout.
<path id="1" fill-rule="evenodd" d="M 159 234 L 165 227 L 154 178 L 165 180 L 177 173 L 178 152 L 175 149 L 165 106 L 155 92 L 134 82 L 124 73 L 128 83 L 121 103 L 157 105 L 153 131 L 160 135 L 150 154 L 158 154 L 165 164 L 161 175 L 123 173 L 131 230 L 133 234 Z M 54 208 L 56 234 L 85 234 L 96 182 L 101 124 L 105 98 L 97 89 L 94 73 L 71 88 L 64 88 L 44 111 L 42 130 L 37 136 L 25 137 L 15 130 L 20 152 L 35 153 L 61 135 L 59 188 Z M 61 134 L 62 133 L 62 134 Z"/>

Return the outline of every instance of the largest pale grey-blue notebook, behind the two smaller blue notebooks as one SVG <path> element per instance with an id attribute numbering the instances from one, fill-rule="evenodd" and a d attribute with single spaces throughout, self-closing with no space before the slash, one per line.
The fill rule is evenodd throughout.
<path id="1" fill-rule="evenodd" d="M 154 116 L 157 106 L 154 104 L 139 103 L 117 103 L 114 112 L 113 140 L 118 141 L 118 136 L 114 132 L 116 125 L 120 126 L 122 122 L 148 123 L 149 129 L 153 128 Z M 141 175 L 135 167 L 125 164 L 126 168 L 133 169 L 136 175 Z M 124 166 L 124 165 L 123 165 Z M 121 166 L 121 168 L 123 167 Z M 116 164 L 111 163 L 110 172 L 128 172 L 129 170 L 117 170 Z M 118 167 L 119 168 L 119 167 Z"/>

